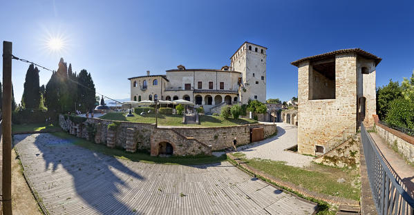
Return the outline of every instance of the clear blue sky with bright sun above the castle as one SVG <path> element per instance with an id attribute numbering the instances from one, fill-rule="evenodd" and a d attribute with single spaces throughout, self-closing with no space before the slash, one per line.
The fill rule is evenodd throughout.
<path id="1" fill-rule="evenodd" d="M 129 98 L 131 76 L 221 68 L 244 42 L 267 50 L 267 98 L 297 96 L 290 62 L 343 48 L 378 57 L 377 86 L 414 70 L 414 1 L 1 1 L 0 39 L 17 57 L 91 72 L 98 92 Z M 65 48 L 51 52 L 48 40 Z M 2 66 L 2 62 L 0 62 Z M 28 65 L 13 61 L 15 99 Z M 41 70 L 40 83 L 50 72 Z"/>

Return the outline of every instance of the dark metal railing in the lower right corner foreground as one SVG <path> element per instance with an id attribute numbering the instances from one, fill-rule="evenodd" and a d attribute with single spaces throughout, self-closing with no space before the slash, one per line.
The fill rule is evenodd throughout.
<path id="1" fill-rule="evenodd" d="M 368 181 L 378 214 L 413 215 L 414 199 L 398 183 L 362 123 L 361 141 Z"/>

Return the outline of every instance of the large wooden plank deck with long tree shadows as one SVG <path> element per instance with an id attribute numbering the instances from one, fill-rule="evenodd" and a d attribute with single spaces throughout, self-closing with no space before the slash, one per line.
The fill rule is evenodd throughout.
<path id="1" fill-rule="evenodd" d="M 50 214 L 313 214 L 230 163 L 161 165 L 113 158 L 51 134 L 15 135 L 29 183 Z"/>

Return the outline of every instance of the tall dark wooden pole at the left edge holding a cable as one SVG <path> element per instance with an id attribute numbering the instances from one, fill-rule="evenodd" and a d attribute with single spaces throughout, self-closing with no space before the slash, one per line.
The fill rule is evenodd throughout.
<path id="1" fill-rule="evenodd" d="M 3 41 L 3 214 L 12 214 L 12 43 Z"/>

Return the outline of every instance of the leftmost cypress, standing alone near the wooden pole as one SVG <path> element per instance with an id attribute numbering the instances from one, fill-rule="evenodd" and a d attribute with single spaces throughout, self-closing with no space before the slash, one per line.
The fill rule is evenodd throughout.
<path id="1" fill-rule="evenodd" d="M 24 82 L 23 96 L 21 96 L 21 105 L 28 109 L 39 108 L 40 88 L 39 88 L 39 70 L 33 64 L 29 65 L 26 72 L 26 81 Z"/>

